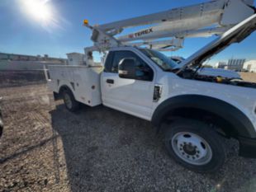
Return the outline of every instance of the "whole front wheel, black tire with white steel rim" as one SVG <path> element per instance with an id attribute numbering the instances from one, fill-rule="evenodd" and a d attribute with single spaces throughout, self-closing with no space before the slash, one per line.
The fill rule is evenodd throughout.
<path id="1" fill-rule="evenodd" d="M 213 128 L 194 119 L 178 119 L 169 125 L 165 146 L 176 162 L 200 173 L 214 172 L 223 166 L 223 138 Z"/>

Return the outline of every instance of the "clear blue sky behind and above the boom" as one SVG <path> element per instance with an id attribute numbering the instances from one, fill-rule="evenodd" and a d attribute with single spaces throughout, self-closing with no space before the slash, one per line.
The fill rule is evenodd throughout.
<path id="1" fill-rule="evenodd" d="M 201 0 L 45 0 L 52 12 L 50 23 L 36 20 L 27 14 L 22 1 L 0 0 L 0 52 L 15 54 L 49 54 L 66 57 L 66 53 L 83 53 L 83 48 L 92 45 L 91 31 L 83 26 L 83 19 L 90 24 L 103 24 L 134 16 L 165 11 L 173 7 L 192 5 Z M 184 48 L 168 55 L 188 57 L 213 38 L 185 40 Z M 231 57 L 256 59 L 256 33 L 240 44 L 218 54 L 211 63 Z"/>

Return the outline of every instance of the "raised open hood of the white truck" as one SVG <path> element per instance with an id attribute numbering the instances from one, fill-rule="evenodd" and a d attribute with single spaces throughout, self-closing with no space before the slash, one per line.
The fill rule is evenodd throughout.
<path id="1" fill-rule="evenodd" d="M 216 40 L 211 41 L 202 49 L 199 49 L 195 54 L 192 54 L 189 58 L 185 59 L 178 68 L 177 73 L 183 71 L 187 67 L 197 67 L 211 58 L 212 55 L 218 54 L 221 50 L 228 47 L 230 44 L 239 43 L 256 30 L 256 14 L 249 16 L 249 18 L 240 22 L 238 25 L 227 30 L 223 35 Z"/>

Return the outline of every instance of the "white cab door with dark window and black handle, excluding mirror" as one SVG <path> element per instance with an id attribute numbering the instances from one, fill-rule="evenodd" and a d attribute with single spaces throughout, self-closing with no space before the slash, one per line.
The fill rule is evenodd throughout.
<path id="1" fill-rule="evenodd" d="M 122 59 L 134 59 L 137 77 L 121 78 L 118 65 Z M 102 73 L 102 101 L 116 110 L 150 119 L 154 95 L 154 70 L 130 50 L 111 51 Z"/>

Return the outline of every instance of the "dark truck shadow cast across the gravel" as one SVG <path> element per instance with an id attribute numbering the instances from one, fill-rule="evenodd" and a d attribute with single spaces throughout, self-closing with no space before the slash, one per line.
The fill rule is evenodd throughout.
<path id="1" fill-rule="evenodd" d="M 104 106 L 83 106 L 73 114 L 58 105 L 50 114 L 73 192 L 256 191 L 256 162 L 237 157 L 236 143 L 227 143 L 223 169 L 201 175 L 173 162 L 145 120 Z M 58 157 L 55 161 L 58 170 Z"/>

